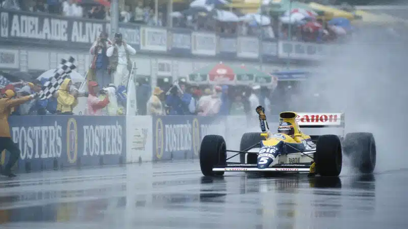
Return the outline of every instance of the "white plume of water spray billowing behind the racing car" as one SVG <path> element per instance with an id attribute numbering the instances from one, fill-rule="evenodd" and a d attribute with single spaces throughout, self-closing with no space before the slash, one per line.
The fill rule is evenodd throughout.
<path id="1" fill-rule="evenodd" d="M 345 44 L 337 44 L 336 55 L 320 63 L 298 97 L 313 110 L 345 112 L 346 132 L 372 132 L 379 173 L 408 168 L 408 32 L 401 28 L 394 36 L 387 30 L 365 26 Z"/>

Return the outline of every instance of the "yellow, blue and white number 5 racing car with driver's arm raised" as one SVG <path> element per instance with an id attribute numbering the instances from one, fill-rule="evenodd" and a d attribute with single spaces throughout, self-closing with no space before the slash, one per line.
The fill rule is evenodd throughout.
<path id="1" fill-rule="evenodd" d="M 338 177 L 343 153 L 361 173 L 372 173 L 376 145 L 372 133 L 347 133 L 344 113 L 279 114 L 278 131 L 271 133 L 264 108 L 257 107 L 262 132 L 244 133 L 240 150 L 227 150 L 220 135 L 206 135 L 201 141 L 199 160 L 204 176 L 223 176 L 225 171 L 308 173 L 309 176 Z M 300 127 L 342 127 L 341 135 L 306 135 Z M 344 150 L 344 152 L 343 152 Z M 227 152 L 236 153 L 227 157 Z M 240 162 L 229 162 L 240 155 Z"/>

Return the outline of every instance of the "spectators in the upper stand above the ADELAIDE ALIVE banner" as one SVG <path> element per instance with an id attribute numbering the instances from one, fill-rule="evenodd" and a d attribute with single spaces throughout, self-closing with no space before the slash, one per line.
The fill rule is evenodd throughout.
<path id="1" fill-rule="evenodd" d="M 107 1 L 109 3 L 110 1 Z M 153 2 L 151 2 L 153 3 Z M 328 42 L 342 38 L 351 33 L 351 30 L 333 27 L 327 21 L 307 17 L 289 26 L 283 23 L 279 17 L 263 15 L 268 23 L 259 20 L 223 20 L 218 9 L 211 11 L 205 8 L 189 8 L 180 12 L 168 14 L 166 8 L 160 6 L 156 17 L 154 4 L 144 4 L 136 1 L 134 6 L 124 5 L 119 8 L 119 21 L 124 23 L 138 23 L 150 26 L 169 26 L 168 15 L 170 15 L 173 27 L 189 28 L 193 31 L 208 31 L 219 34 L 241 35 L 241 36 L 263 36 L 265 38 L 291 39 L 303 42 Z M 110 5 L 88 5 L 79 0 L 3 0 L 2 7 L 13 10 L 30 12 L 41 12 L 68 17 L 80 17 L 99 20 L 110 20 Z M 238 10 L 227 12 L 232 17 L 244 16 Z M 231 16 L 230 15 L 230 16 Z M 291 30 L 291 33 L 289 33 Z M 289 34 L 291 36 L 289 37 Z"/>

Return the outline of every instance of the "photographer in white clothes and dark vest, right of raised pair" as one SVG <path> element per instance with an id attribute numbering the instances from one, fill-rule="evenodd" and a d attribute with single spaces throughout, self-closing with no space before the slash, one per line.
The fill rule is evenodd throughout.
<path id="1" fill-rule="evenodd" d="M 121 33 L 116 33 L 113 41 L 106 54 L 109 57 L 109 71 L 112 74 L 112 81 L 116 88 L 120 85 L 127 87 L 129 73 L 132 69 L 130 55 L 135 55 L 136 50 L 126 44 L 122 39 Z"/>

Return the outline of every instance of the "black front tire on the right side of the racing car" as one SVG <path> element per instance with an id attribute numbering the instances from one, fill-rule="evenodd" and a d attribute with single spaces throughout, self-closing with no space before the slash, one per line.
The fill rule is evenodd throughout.
<path id="1" fill-rule="evenodd" d="M 337 135 L 321 135 L 317 140 L 316 173 L 322 177 L 337 177 L 341 173 L 343 155 L 340 138 Z"/>

